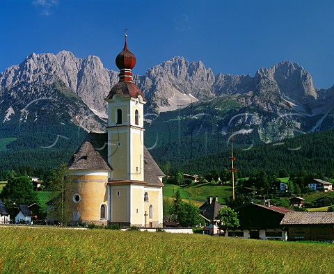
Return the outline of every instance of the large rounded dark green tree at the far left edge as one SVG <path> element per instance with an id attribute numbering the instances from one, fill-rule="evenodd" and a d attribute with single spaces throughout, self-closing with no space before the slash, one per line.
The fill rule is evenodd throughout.
<path id="1" fill-rule="evenodd" d="M 33 204 L 38 202 L 38 195 L 33 191 L 31 179 L 26 176 L 8 179 L 8 183 L 0 193 L 0 199 L 6 207 L 13 207 L 13 204 Z"/>

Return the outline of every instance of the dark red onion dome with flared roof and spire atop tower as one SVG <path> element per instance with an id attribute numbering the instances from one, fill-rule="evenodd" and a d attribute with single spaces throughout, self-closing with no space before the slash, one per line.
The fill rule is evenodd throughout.
<path id="1" fill-rule="evenodd" d="M 111 88 L 109 95 L 105 99 L 111 99 L 113 95 L 119 94 L 122 97 L 134 97 L 138 98 L 138 95 L 143 97 L 145 100 L 143 93 L 135 85 L 132 80 L 132 68 L 136 65 L 136 57 L 132 54 L 131 51 L 127 48 L 127 35 L 125 34 L 125 45 L 120 54 L 116 57 L 116 65 L 120 69 L 120 81 L 116 83 L 113 88 Z"/>

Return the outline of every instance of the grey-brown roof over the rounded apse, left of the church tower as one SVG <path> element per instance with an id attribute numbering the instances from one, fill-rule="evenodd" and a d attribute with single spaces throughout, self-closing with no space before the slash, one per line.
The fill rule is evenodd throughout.
<path id="1" fill-rule="evenodd" d="M 69 170 L 112 170 L 107 159 L 108 134 L 90 132 L 70 163 Z"/>

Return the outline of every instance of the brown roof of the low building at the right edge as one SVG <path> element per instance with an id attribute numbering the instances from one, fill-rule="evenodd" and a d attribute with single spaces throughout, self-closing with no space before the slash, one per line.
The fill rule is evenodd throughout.
<path id="1" fill-rule="evenodd" d="M 280 225 L 332 225 L 334 212 L 287 212 Z"/>

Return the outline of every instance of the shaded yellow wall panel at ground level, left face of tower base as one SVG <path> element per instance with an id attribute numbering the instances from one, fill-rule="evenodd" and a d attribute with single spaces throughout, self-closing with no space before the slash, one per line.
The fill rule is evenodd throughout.
<path id="1" fill-rule="evenodd" d="M 112 195 L 112 219 L 113 223 L 127 223 L 129 218 L 127 216 L 127 200 L 128 200 L 127 188 L 113 188 L 111 190 Z"/>

